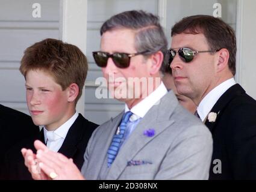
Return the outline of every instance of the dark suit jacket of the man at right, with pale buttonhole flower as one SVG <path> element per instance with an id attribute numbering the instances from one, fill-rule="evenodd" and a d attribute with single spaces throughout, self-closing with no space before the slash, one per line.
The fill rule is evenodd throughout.
<path id="1" fill-rule="evenodd" d="M 213 134 L 210 179 L 256 179 L 256 101 L 236 84 L 211 112 L 217 118 L 205 122 Z"/>

